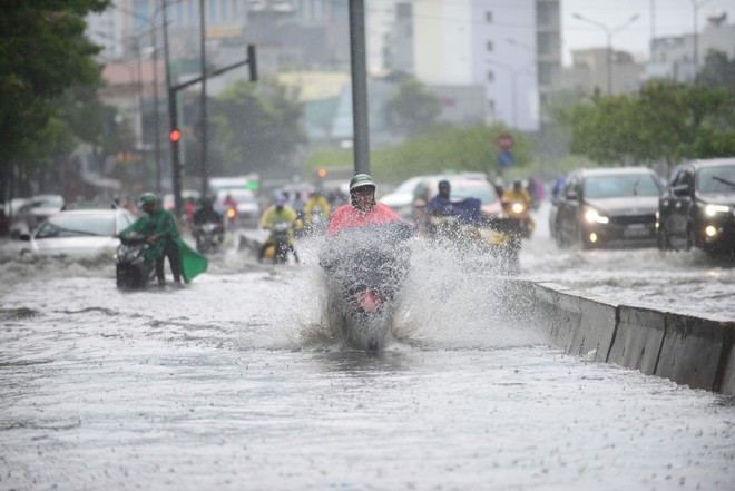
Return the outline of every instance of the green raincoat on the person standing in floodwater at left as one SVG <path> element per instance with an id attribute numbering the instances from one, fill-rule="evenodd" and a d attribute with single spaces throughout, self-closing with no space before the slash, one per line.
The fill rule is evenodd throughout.
<path id="1" fill-rule="evenodd" d="M 166 248 L 166 242 L 173 240 L 178 247 L 178 256 L 182 259 L 182 276 L 184 276 L 186 283 L 190 283 L 196 275 L 207 271 L 207 258 L 182 240 L 174 215 L 163 208 L 158 208 L 153 215 L 145 214 L 135 220 L 133 225 L 120 233 L 120 239 L 125 242 L 135 235 L 144 237 L 158 236 L 158 239 L 145 253 L 144 257 L 147 263 L 154 263 L 161 257 Z"/>

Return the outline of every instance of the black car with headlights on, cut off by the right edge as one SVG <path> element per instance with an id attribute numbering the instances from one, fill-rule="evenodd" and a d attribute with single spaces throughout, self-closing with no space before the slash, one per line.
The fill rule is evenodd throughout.
<path id="1" fill-rule="evenodd" d="M 735 158 L 677 166 L 658 202 L 658 247 L 735 256 Z"/>

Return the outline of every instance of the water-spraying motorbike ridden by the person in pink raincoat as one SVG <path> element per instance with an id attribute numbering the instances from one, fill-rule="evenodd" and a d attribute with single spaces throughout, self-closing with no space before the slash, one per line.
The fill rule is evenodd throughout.
<path id="1" fill-rule="evenodd" d="M 327 274 L 330 326 L 347 346 L 378 352 L 389 343 L 412 235 L 413 227 L 398 220 L 344 230 L 320 255 Z"/>

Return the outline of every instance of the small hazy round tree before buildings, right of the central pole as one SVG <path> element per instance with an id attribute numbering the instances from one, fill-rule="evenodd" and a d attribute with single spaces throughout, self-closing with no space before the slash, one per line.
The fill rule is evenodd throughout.
<path id="1" fill-rule="evenodd" d="M 389 120 L 400 131 L 416 136 L 434 127 L 441 114 L 441 104 L 419 80 L 405 78 L 388 104 L 388 114 Z"/>

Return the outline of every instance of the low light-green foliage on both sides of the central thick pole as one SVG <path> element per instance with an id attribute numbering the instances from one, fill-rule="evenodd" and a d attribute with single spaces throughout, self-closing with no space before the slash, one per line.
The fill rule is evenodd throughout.
<path id="1" fill-rule="evenodd" d="M 383 183 L 398 184 L 409 177 L 444 170 L 480 171 L 494 175 L 496 144 L 502 132 L 511 132 L 516 141 L 516 166 L 531 161 L 531 143 L 501 125 L 470 128 L 443 128 L 408 139 L 399 145 L 372 150 L 371 174 Z M 320 167 L 353 167 L 352 150 L 320 150 L 307 157 L 306 174 Z"/>

